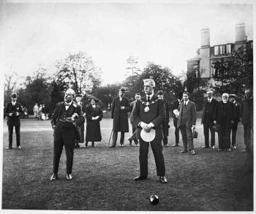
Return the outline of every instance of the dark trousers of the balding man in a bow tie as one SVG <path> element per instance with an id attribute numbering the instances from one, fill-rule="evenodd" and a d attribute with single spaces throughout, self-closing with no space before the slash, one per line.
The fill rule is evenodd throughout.
<path id="1" fill-rule="evenodd" d="M 67 156 L 67 174 L 71 174 L 75 148 L 75 129 L 62 129 L 61 125 L 57 124 L 56 130 L 54 130 L 53 173 L 58 173 L 59 171 L 59 161 L 63 146 Z"/>

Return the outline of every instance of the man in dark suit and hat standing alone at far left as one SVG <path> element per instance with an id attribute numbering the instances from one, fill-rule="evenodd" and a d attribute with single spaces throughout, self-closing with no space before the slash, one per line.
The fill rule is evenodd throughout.
<path id="1" fill-rule="evenodd" d="M 9 146 L 7 150 L 12 149 L 12 134 L 13 127 L 15 126 L 16 133 L 16 145 L 20 149 L 20 116 L 23 114 L 21 104 L 17 101 L 17 93 L 12 93 L 12 102 L 7 103 L 7 106 L 4 110 L 4 114 L 7 116 L 7 126 L 9 131 Z"/>

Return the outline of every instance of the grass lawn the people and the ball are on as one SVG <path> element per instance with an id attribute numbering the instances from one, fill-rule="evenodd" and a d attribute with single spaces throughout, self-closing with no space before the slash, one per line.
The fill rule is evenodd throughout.
<path id="1" fill-rule="evenodd" d="M 169 145 L 173 145 L 172 121 L 170 126 L 168 140 Z M 123 148 L 108 148 L 112 120 L 103 118 L 101 128 L 102 142 L 96 142 L 97 148 L 75 149 L 73 179 L 65 179 L 66 156 L 63 150 L 59 180 L 51 182 L 53 131 L 50 121 L 21 120 L 21 150 L 5 150 L 8 131 L 4 121 L 2 209 L 253 210 L 253 175 L 246 173 L 250 159 L 248 153 L 242 153 L 244 131 L 241 124 L 238 126 L 237 150 L 233 152 L 218 152 L 218 142 L 214 150 L 203 149 L 203 126 L 199 120 L 195 156 L 179 153 L 182 147 L 163 148 L 167 184 L 159 182 L 151 148 L 148 179 L 133 181 L 132 178 L 139 175 L 139 148 L 129 147 L 128 133 Z M 16 148 L 15 134 L 13 142 Z M 158 205 L 149 203 L 152 194 L 159 196 Z"/>

